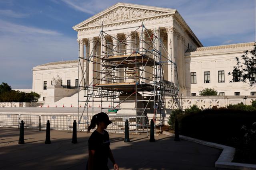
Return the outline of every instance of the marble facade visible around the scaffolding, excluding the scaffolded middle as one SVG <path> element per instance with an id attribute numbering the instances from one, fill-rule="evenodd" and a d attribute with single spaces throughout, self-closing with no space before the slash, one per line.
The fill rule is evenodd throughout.
<path id="1" fill-rule="evenodd" d="M 250 88 L 248 84 L 242 82 L 229 83 L 232 77 L 228 76 L 228 72 L 232 72 L 233 66 L 236 64 L 234 58 L 241 56 L 243 51 L 252 49 L 254 43 L 203 47 L 202 43 L 175 9 L 126 3 L 118 3 L 107 8 L 73 27 L 77 31 L 80 57 L 88 56 L 91 53 L 100 54 L 101 50 L 104 51 L 104 49 L 100 48 L 96 51 L 93 48 L 96 41 L 99 41 L 97 37 L 102 25 L 103 29 L 108 31 L 108 34 L 115 37 L 115 39 L 109 40 L 114 43 L 116 39 L 122 40 L 127 35 L 134 33 L 134 27 L 142 23 L 148 30 L 155 31 L 161 37 L 164 48 L 167 49 L 173 61 L 176 62 L 178 84 L 180 86 L 179 96 L 186 96 L 186 98 L 198 96 L 198 91 L 204 88 L 214 88 L 222 96 L 256 95 L 256 90 Z M 112 31 L 113 29 L 115 30 Z M 140 30 L 137 31 L 136 35 L 139 34 Z M 130 39 L 126 41 L 130 41 Z M 105 42 L 102 41 L 100 43 L 104 44 Z M 118 48 L 121 51 L 133 50 L 133 47 L 126 47 L 125 45 Z M 87 65 L 81 59 L 80 63 L 84 68 Z M 40 101 L 54 104 L 62 98 L 74 96 L 77 90 L 65 91 L 66 96 L 62 95 L 58 99 L 47 101 L 47 98 L 52 98 L 55 95 L 49 90 L 49 87 L 53 86 L 53 78 L 58 75 L 62 79 L 62 84 L 75 87 L 78 84 L 78 80 L 85 79 L 81 83 L 90 84 L 92 76 L 95 76 L 92 74 L 93 67 L 97 66 L 91 63 L 83 78 L 82 74 L 79 74 L 80 77 L 78 77 L 78 60 L 35 66 L 33 68 L 32 90 L 41 95 Z M 79 69 L 81 71 L 81 68 Z M 173 78 L 171 69 L 164 68 L 164 76 L 167 80 L 175 82 L 177 80 Z M 223 98 L 222 96 L 220 98 Z M 170 102 L 168 100 L 168 103 Z"/>

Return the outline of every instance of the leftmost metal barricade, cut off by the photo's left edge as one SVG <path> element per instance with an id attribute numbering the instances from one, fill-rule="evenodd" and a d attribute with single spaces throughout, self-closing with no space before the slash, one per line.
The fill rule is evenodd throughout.
<path id="1" fill-rule="evenodd" d="M 18 114 L 0 114 L 0 126 L 19 127 L 20 119 Z"/>

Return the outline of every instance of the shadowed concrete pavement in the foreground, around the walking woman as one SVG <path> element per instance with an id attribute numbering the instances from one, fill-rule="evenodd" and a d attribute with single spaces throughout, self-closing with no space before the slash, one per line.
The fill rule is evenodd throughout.
<path id="1" fill-rule="evenodd" d="M 52 144 L 44 144 L 45 131 L 25 129 L 25 144 L 18 145 L 19 130 L 0 128 L 0 169 L 72 170 L 85 169 L 90 134 L 78 133 L 78 144 L 71 144 L 72 133 L 51 131 Z M 146 135 L 110 134 L 111 149 L 120 170 L 214 170 L 221 150 L 188 141 L 174 142 L 161 134 L 150 143 Z M 109 161 L 108 167 L 113 169 Z"/>

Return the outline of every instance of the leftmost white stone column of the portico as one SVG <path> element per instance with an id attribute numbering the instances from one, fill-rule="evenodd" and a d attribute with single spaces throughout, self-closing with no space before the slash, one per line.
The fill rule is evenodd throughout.
<path id="1" fill-rule="evenodd" d="M 83 59 L 84 58 L 84 41 L 83 39 L 79 39 L 78 43 L 79 43 L 79 57 L 80 57 L 78 85 L 80 84 L 80 86 L 84 86 L 84 59 Z"/>

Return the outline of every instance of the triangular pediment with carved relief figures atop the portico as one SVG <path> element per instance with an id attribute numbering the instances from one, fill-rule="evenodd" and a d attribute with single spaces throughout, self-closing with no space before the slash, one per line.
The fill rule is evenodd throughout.
<path id="1" fill-rule="evenodd" d="M 175 13 L 176 10 L 168 8 L 158 8 L 136 4 L 117 3 L 106 10 L 75 25 L 73 29 L 81 29 L 94 25 L 115 23 L 126 20 L 137 20 L 148 16 L 157 16 L 164 13 Z"/>

